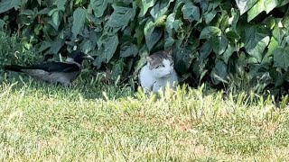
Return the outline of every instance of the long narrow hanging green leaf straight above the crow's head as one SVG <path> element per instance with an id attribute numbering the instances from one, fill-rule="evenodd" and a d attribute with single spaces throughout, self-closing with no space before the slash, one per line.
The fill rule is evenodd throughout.
<path id="1" fill-rule="evenodd" d="M 86 20 L 86 11 L 83 8 L 77 8 L 73 12 L 73 23 L 72 23 L 72 34 L 73 37 L 76 38 L 80 32 L 80 30 L 84 27 L 84 23 Z"/>

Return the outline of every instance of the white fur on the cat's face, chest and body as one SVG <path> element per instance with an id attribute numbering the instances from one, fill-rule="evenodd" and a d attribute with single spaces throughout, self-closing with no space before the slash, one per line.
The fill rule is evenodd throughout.
<path id="1" fill-rule="evenodd" d="M 139 81 L 144 89 L 144 93 L 148 94 L 150 91 L 157 92 L 164 89 L 167 84 L 174 89 L 178 84 L 178 76 L 173 66 L 170 65 L 170 60 L 163 59 L 164 67 L 149 68 L 149 62 L 142 67 L 139 74 Z"/>

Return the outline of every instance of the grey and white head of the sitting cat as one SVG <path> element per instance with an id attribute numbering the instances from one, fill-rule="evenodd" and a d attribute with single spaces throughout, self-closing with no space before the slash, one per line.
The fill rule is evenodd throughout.
<path id="1" fill-rule="evenodd" d="M 147 66 L 155 77 L 165 77 L 172 74 L 172 49 L 158 51 L 146 57 Z"/>

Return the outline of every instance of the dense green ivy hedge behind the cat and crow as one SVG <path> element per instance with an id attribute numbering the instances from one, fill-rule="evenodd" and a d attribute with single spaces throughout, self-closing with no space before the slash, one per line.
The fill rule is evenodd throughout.
<path id="1" fill-rule="evenodd" d="M 35 55 L 75 46 L 112 78 L 136 77 L 144 56 L 172 47 L 190 84 L 288 84 L 289 0 L 3 0 L 1 26 Z M 238 81 L 237 81 L 238 82 Z"/>

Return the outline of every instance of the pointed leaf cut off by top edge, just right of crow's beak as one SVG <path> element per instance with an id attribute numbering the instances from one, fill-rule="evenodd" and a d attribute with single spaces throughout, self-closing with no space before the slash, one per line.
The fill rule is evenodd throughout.
<path id="1" fill-rule="evenodd" d="M 106 9 L 107 9 L 107 4 L 111 3 L 111 0 L 90 0 L 90 6 L 93 10 L 93 13 L 97 17 L 101 17 Z"/>

